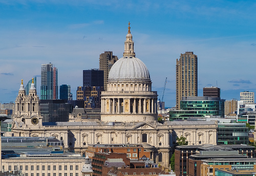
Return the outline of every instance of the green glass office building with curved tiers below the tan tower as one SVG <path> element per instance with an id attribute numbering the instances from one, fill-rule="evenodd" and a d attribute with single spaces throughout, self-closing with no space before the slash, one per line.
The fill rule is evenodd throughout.
<path id="1" fill-rule="evenodd" d="M 185 120 L 190 117 L 224 117 L 224 101 L 219 97 L 182 97 L 181 110 L 171 110 L 169 119 Z"/>

